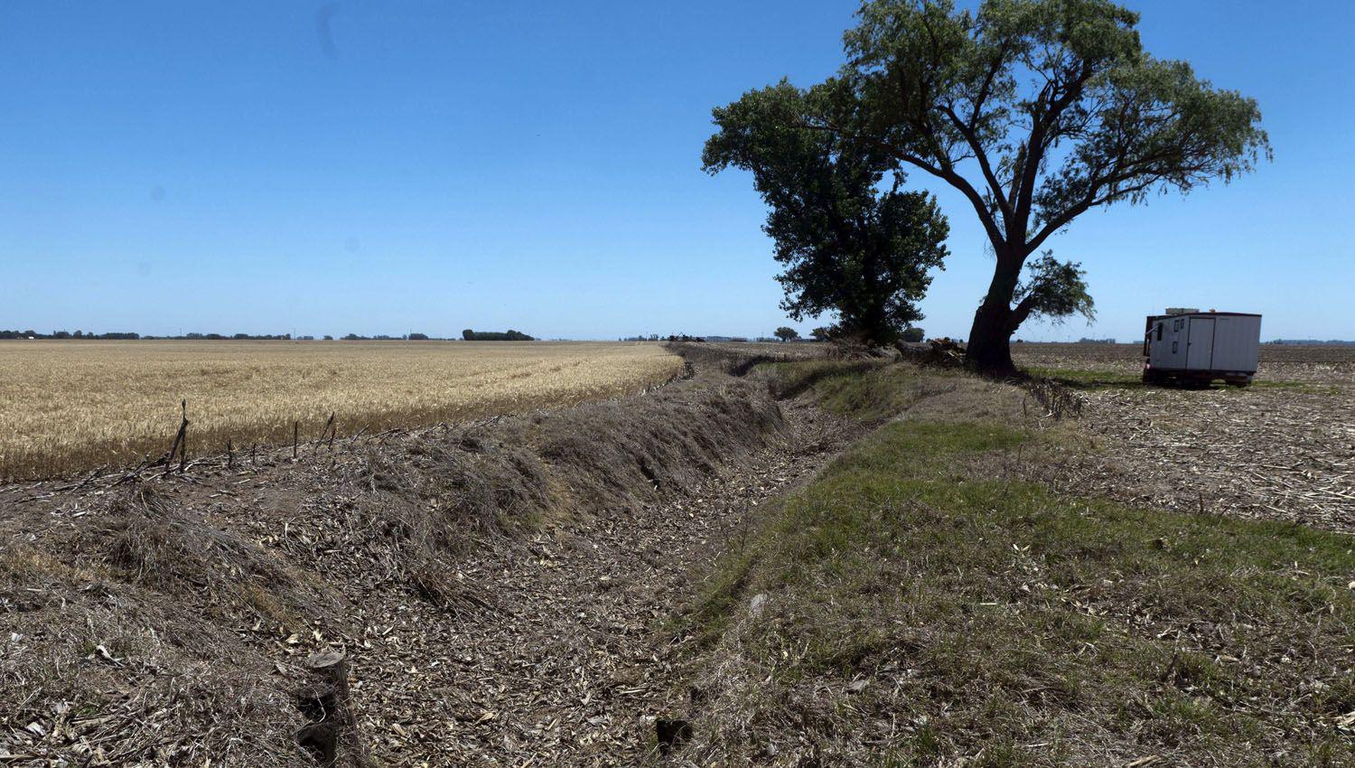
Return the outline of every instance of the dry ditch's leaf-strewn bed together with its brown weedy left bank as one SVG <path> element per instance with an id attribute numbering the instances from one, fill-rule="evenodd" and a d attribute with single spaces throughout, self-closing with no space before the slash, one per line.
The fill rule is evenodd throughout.
<path id="1" fill-rule="evenodd" d="M 645 396 L 0 488 L 0 760 L 614 763 L 653 623 L 843 427 L 695 364 Z"/>

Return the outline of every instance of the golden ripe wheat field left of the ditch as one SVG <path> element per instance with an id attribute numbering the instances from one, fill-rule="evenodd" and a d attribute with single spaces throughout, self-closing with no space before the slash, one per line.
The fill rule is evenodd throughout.
<path id="1" fill-rule="evenodd" d="M 4 341 L 0 477 L 164 454 L 187 401 L 188 454 L 556 408 L 683 368 L 656 344 L 461 341 Z"/>

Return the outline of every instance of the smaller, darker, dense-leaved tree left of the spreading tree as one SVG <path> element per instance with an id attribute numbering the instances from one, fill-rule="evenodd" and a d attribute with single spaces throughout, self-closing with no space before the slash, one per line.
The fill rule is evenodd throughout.
<path id="1" fill-rule="evenodd" d="M 797 321 L 835 314 L 835 335 L 885 344 L 921 318 L 916 302 L 946 257 L 950 226 L 931 195 L 898 188 L 902 173 L 874 144 L 809 125 L 836 96 L 785 81 L 745 93 L 714 110 L 720 130 L 702 160 L 710 173 L 752 172 L 770 209 L 763 229 L 786 267 L 782 309 Z"/>

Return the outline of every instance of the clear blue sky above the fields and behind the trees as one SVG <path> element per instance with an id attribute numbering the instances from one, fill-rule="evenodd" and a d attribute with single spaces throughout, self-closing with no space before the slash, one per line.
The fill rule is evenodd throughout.
<path id="1" fill-rule="evenodd" d="M 1130 340 L 1190 305 L 1355 337 L 1355 3 L 1129 5 L 1156 56 L 1259 99 L 1275 161 L 1084 215 L 1053 245 L 1099 322 L 1022 336 Z M 831 74 L 855 7 L 8 0 L 0 328 L 768 335 L 764 210 L 701 172 L 710 108 Z M 954 255 L 921 325 L 965 336 L 991 261 L 938 192 Z"/>

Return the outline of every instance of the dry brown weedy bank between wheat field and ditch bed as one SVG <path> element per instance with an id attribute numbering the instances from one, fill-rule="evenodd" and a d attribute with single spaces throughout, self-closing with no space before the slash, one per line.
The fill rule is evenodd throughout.
<path id="1" fill-rule="evenodd" d="M 354 654 L 355 696 L 373 696 L 389 653 L 374 622 L 390 631 L 411 603 L 454 622 L 501 600 L 458 572 L 466 553 L 679 497 L 783 431 L 766 386 L 698 374 L 298 461 L 3 486 L 0 754 L 308 764 L 297 734 L 325 725 L 298 700 L 310 654 Z M 396 656 L 379 673 L 431 661 Z"/>

